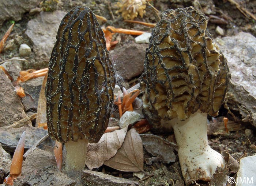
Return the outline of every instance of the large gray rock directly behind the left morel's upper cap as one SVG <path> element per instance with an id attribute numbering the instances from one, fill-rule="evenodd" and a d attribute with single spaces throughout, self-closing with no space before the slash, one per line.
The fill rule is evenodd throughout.
<path id="1" fill-rule="evenodd" d="M 48 66 L 57 30 L 64 15 L 63 11 L 40 12 L 27 23 L 25 34 L 33 42 L 35 52 L 36 62 L 30 64 L 32 68 L 40 69 Z"/>

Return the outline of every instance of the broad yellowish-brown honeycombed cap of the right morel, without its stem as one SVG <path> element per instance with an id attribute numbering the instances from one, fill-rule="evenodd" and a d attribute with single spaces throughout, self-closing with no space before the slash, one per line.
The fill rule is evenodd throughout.
<path id="1" fill-rule="evenodd" d="M 153 29 L 141 79 L 144 112 L 154 123 L 185 120 L 198 109 L 218 115 L 231 75 L 207 20 L 193 7 L 168 9 Z"/>

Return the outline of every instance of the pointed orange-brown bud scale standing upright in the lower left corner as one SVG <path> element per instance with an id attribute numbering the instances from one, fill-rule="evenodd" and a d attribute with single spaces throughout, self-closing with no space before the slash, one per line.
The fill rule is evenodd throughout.
<path id="1" fill-rule="evenodd" d="M 26 136 L 26 131 L 24 131 L 20 136 L 19 142 L 17 144 L 17 147 L 15 149 L 15 152 L 12 158 L 10 175 L 13 179 L 15 179 L 21 174 L 24 146 L 25 146 L 25 136 Z"/>

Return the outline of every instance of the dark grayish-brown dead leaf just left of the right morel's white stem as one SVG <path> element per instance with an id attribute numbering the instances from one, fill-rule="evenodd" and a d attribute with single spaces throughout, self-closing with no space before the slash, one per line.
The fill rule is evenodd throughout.
<path id="1" fill-rule="evenodd" d="M 175 162 L 177 157 L 177 145 L 166 141 L 160 136 L 153 134 L 140 134 L 142 144 L 148 153 L 154 155 L 156 161 L 163 163 Z"/>

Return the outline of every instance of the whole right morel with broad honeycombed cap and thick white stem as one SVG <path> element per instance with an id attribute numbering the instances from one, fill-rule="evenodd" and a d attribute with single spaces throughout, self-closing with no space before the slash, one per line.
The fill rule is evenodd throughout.
<path id="1" fill-rule="evenodd" d="M 208 181 L 221 154 L 207 141 L 207 113 L 217 116 L 231 75 L 206 31 L 208 18 L 193 7 L 166 10 L 146 50 L 144 113 L 157 126 L 172 125 L 185 181 Z"/>

